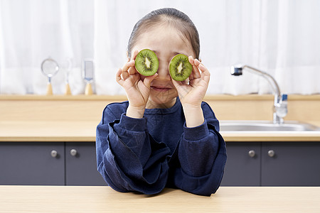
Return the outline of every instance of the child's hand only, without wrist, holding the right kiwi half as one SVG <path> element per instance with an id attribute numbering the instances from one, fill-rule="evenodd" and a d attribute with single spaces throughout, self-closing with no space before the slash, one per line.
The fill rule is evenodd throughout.
<path id="1" fill-rule="evenodd" d="M 187 81 L 172 80 L 178 91 L 178 96 L 183 107 L 201 107 L 201 102 L 206 95 L 210 80 L 209 70 L 198 59 L 189 56 L 193 70 Z"/>

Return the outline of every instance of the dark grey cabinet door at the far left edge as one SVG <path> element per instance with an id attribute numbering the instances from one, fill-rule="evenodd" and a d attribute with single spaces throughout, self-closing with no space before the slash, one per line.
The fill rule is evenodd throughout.
<path id="1" fill-rule="evenodd" d="M 64 143 L 1 142 L 0 185 L 64 185 L 64 153 Z"/>

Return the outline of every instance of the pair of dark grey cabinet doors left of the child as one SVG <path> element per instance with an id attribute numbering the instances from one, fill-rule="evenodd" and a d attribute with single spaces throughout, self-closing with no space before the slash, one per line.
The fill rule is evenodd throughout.
<path id="1" fill-rule="evenodd" d="M 0 185 L 107 185 L 92 142 L 1 142 Z"/>

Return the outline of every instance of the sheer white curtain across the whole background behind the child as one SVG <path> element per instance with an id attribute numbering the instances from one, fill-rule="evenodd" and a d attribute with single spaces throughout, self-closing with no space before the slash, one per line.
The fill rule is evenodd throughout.
<path id="1" fill-rule="evenodd" d="M 64 92 L 65 60 L 73 60 L 70 86 L 82 94 L 82 60 L 95 62 L 95 92 L 124 94 L 114 80 L 126 62 L 129 35 L 146 13 L 174 7 L 196 24 L 201 60 L 211 72 L 207 94 L 265 94 L 267 81 L 230 66 L 268 72 L 287 94 L 320 93 L 320 1 L 318 0 L 0 0 L 0 93 L 44 94 L 41 62 L 61 65 L 53 92 Z"/>

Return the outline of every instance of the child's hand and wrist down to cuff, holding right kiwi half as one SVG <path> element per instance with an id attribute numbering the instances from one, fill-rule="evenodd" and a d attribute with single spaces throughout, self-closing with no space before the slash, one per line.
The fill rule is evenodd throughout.
<path id="1" fill-rule="evenodd" d="M 172 81 L 178 91 L 186 116 L 186 126 L 194 127 L 203 124 L 204 121 L 201 102 L 208 89 L 210 72 L 198 59 L 193 59 L 192 56 L 189 56 L 189 62 L 193 67 L 189 76 L 189 84 L 187 81 Z"/>

